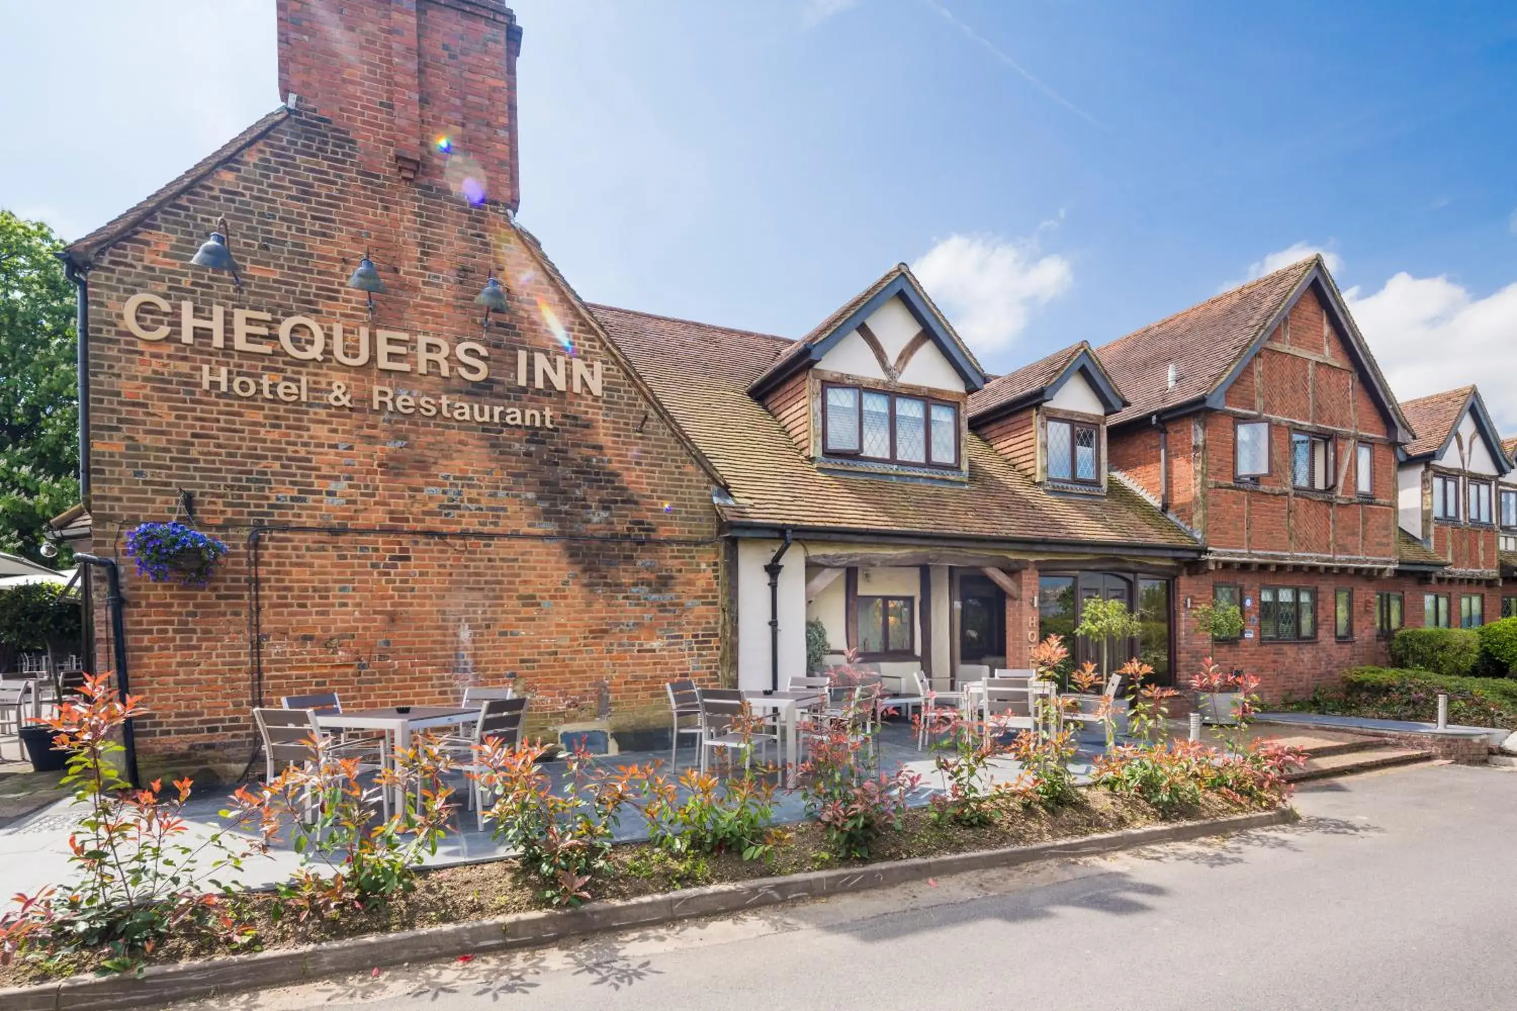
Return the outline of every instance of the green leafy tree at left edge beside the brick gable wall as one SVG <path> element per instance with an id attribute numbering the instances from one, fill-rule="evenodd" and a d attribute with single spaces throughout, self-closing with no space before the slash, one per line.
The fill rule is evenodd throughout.
<path id="1" fill-rule="evenodd" d="M 59 249 L 41 221 L 0 209 L 0 550 L 44 564 L 44 524 L 79 500 L 74 290 Z"/>

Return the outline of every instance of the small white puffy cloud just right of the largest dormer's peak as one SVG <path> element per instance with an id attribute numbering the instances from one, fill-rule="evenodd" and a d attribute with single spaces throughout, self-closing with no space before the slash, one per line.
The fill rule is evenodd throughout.
<path id="1" fill-rule="evenodd" d="M 1074 271 L 1032 239 L 950 235 L 912 264 L 918 280 L 977 353 L 1009 347 L 1027 317 L 1069 290 Z"/>

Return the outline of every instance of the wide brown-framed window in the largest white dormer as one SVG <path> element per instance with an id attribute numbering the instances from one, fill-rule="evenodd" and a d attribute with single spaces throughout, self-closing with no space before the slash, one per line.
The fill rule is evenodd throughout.
<path id="1" fill-rule="evenodd" d="M 909 467 L 959 467 L 959 405 L 822 383 L 822 453 Z"/>

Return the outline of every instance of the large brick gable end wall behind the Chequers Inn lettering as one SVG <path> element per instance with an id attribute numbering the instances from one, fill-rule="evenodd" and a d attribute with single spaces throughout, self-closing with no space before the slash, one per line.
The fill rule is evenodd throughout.
<path id="1" fill-rule="evenodd" d="M 221 214 L 240 293 L 187 264 Z M 352 347 L 369 320 L 344 282 L 366 246 L 388 286 L 372 326 L 479 341 L 487 380 L 302 362 L 275 336 L 255 341 L 272 355 L 232 349 L 234 308 L 341 321 Z M 492 268 L 511 308 L 484 330 L 473 294 Z M 200 317 L 225 306 L 228 347 L 130 335 L 123 303 L 141 291 L 174 306 L 174 326 L 181 300 Z M 604 684 L 613 723 L 636 726 L 663 718 L 666 679 L 730 667 L 710 476 L 498 205 L 378 176 L 346 130 L 296 114 L 102 255 L 90 296 L 94 549 L 120 555 L 181 490 L 231 546 L 206 590 L 150 584 L 123 559 L 132 687 L 153 709 L 144 772 L 238 770 L 249 703 L 290 691 L 435 703 L 514 671 L 539 717 L 555 700 L 593 714 Z M 517 350 L 551 361 L 566 346 L 601 364 L 604 396 L 517 387 Z M 202 367 L 311 394 L 206 391 Z M 337 382 L 355 406 L 326 400 Z M 376 385 L 552 411 L 554 427 L 372 409 Z M 394 529 L 413 534 L 376 532 Z"/>

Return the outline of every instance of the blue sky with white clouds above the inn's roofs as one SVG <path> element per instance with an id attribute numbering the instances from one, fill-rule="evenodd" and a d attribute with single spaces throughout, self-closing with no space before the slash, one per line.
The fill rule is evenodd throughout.
<path id="1" fill-rule="evenodd" d="M 279 99 L 273 0 L 15 5 L 0 205 L 108 220 Z M 1517 429 L 1517 8 L 516 0 L 587 299 L 799 335 L 898 261 L 992 370 L 1324 250 L 1403 397 Z"/>

